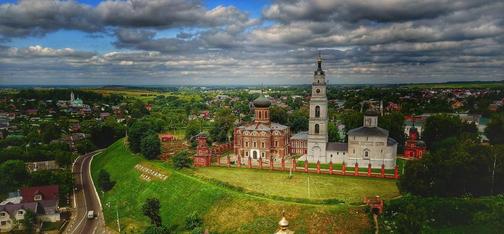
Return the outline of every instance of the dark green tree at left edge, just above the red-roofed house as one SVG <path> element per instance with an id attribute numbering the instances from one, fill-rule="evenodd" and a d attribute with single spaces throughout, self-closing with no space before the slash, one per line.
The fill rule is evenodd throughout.
<path id="1" fill-rule="evenodd" d="M 15 191 L 28 182 L 30 175 L 23 161 L 7 160 L 0 164 L 0 194 Z"/>

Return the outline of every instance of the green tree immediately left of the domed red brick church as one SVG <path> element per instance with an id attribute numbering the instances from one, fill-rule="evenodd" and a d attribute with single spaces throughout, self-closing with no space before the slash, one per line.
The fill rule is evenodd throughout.
<path id="1" fill-rule="evenodd" d="M 210 130 L 213 141 L 226 142 L 228 134 L 231 135 L 234 127 L 235 116 L 229 108 L 223 108 L 215 114 L 215 122 Z"/>

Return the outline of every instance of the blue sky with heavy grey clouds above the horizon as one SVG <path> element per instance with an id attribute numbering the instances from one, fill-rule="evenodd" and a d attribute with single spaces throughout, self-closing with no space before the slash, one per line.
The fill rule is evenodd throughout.
<path id="1" fill-rule="evenodd" d="M 502 0 L 0 0 L 0 85 L 504 80 Z"/>

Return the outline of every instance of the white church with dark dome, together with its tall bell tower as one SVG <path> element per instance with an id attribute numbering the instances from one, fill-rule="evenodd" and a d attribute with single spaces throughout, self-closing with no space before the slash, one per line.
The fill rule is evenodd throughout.
<path id="1" fill-rule="evenodd" d="M 367 111 L 363 126 L 348 131 L 348 143 L 328 141 L 328 116 L 325 72 L 318 58 L 310 98 L 310 119 L 306 155 L 301 159 L 316 163 L 359 164 L 359 167 L 392 169 L 396 165 L 397 142 L 387 130 L 378 127 L 378 113 Z"/>

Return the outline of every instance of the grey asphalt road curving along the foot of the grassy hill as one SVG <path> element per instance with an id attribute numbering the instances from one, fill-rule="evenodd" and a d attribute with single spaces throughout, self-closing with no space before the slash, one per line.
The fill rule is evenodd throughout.
<path id="1" fill-rule="evenodd" d="M 75 185 L 78 188 L 77 191 L 74 191 L 75 212 L 73 213 L 74 218 L 65 233 L 105 233 L 100 199 L 97 197 L 96 189 L 93 186 L 90 171 L 91 159 L 100 152 L 95 151 L 85 154 L 75 160 L 72 168 Z M 90 210 L 93 210 L 96 214 L 94 219 L 87 218 L 87 212 Z"/>

